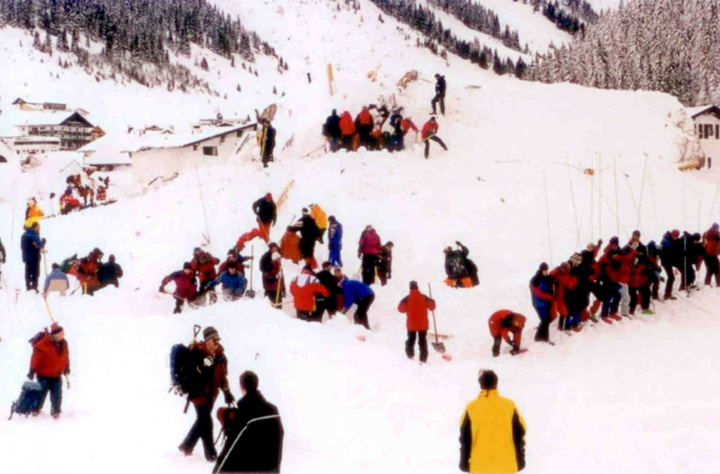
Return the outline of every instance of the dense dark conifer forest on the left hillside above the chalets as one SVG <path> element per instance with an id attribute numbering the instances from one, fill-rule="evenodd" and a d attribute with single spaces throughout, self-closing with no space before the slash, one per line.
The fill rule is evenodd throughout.
<path id="1" fill-rule="evenodd" d="M 0 22 L 39 27 L 62 44 L 81 32 L 102 42 L 106 55 L 129 52 L 156 64 L 168 62 L 166 47 L 187 55 L 193 43 L 227 58 L 274 55 L 239 18 L 205 0 L 0 0 Z"/>

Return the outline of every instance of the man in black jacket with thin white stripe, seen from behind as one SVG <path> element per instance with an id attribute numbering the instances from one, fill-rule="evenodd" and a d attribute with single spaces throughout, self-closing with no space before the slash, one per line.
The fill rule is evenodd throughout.
<path id="1" fill-rule="evenodd" d="M 240 375 L 238 408 L 220 409 L 225 435 L 213 473 L 279 473 L 284 429 L 277 407 L 258 391 L 258 376 Z"/>

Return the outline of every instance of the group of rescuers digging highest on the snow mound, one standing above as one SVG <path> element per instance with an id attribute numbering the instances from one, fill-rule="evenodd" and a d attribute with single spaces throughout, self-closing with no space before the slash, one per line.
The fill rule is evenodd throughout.
<path id="1" fill-rule="evenodd" d="M 445 77 L 439 74 L 436 78 L 436 94 L 431 101 L 433 111 L 436 114 L 436 104 L 440 104 L 441 114 L 445 115 Z M 373 117 L 372 111 L 375 111 Z M 415 140 L 418 141 L 418 127 L 410 117 L 403 117 L 402 106 L 389 110 L 387 106 L 370 104 L 363 106 L 359 114 L 353 119 L 349 111 L 343 111 L 338 115 L 337 109 L 333 109 L 330 116 L 323 124 L 323 136 L 328 141 L 330 151 L 336 152 L 340 149 L 356 151 L 359 147 L 366 150 L 389 150 L 390 152 L 405 150 L 405 136 L 408 132 L 415 132 Z M 390 129 L 383 130 L 384 124 L 390 119 Z M 430 142 L 436 142 L 443 150 L 447 150 L 445 142 L 438 137 L 438 122 L 435 117 L 430 117 L 420 131 L 420 138 L 425 143 L 425 158 L 430 155 Z"/>

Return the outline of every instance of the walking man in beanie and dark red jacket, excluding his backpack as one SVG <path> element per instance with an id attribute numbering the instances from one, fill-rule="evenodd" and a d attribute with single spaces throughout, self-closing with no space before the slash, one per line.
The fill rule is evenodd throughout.
<path id="1" fill-rule="evenodd" d="M 225 349 L 220 345 L 220 334 L 214 327 L 208 326 L 202 331 L 202 338 L 202 342 L 192 342 L 188 347 L 189 357 L 197 361 L 196 367 L 202 380 L 198 390 L 188 394 L 188 401 L 195 407 L 197 419 L 178 449 L 186 456 L 192 455 L 198 439 L 202 439 L 205 459 L 214 462 L 217 451 L 212 440 L 212 406 L 220 391 L 228 405 L 233 404 L 235 397 L 228 386 L 228 359 L 225 358 Z"/>

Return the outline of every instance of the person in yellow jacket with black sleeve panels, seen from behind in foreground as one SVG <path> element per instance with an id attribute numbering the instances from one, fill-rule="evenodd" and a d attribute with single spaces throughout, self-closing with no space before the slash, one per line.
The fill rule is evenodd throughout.
<path id="1" fill-rule="evenodd" d="M 509 398 L 498 394 L 498 375 L 480 372 L 480 396 L 460 421 L 460 470 L 513 474 L 525 468 L 525 421 Z"/>

